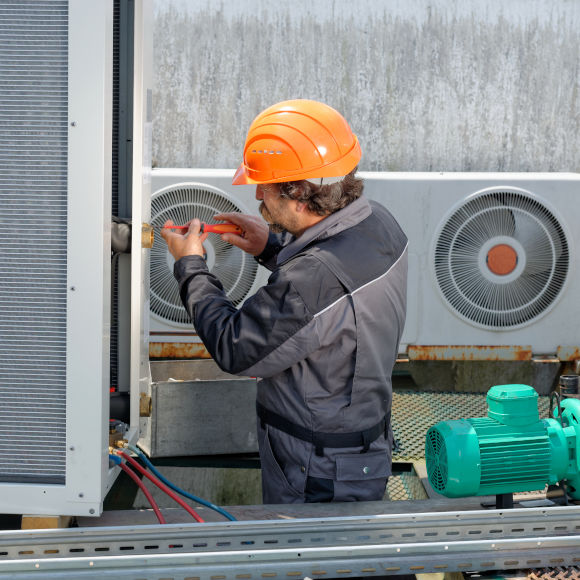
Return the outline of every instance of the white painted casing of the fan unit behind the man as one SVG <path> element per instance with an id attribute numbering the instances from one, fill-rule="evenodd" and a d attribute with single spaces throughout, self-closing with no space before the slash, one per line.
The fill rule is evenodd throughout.
<path id="1" fill-rule="evenodd" d="M 205 183 L 223 189 L 255 212 L 254 187 L 232 186 L 232 175 L 232 170 L 158 169 L 153 171 L 153 191 L 172 183 Z M 577 202 L 580 174 L 361 172 L 359 176 L 365 179 L 365 195 L 390 209 L 409 237 L 407 323 L 401 354 L 406 354 L 409 347 L 416 346 L 487 346 L 492 348 L 485 357 L 493 358 L 494 351 L 503 347 L 529 347 L 534 354 L 560 355 L 564 359 L 565 352 L 577 348 L 580 343 L 577 331 L 580 281 L 577 275 L 578 233 L 575 226 L 580 220 Z M 500 229 L 495 231 L 493 219 L 484 219 L 484 231 L 474 239 L 474 246 L 469 250 L 472 255 L 466 258 L 471 268 L 466 275 L 474 277 L 476 287 L 487 285 L 499 288 L 498 292 L 503 292 L 502 295 L 508 289 L 511 294 L 515 293 L 513 298 L 508 294 L 508 305 L 501 308 L 513 310 L 516 315 L 510 317 L 500 313 L 499 318 L 492 316 L 488 319 L 485 311 L 497 308 L 489 298 L 488 303 L 485 299 L 483 302 L 479 300 L 478 310 L 484 312 L 484 318 L 472 319 L 458 309 L 442 289 L 435 267 L 437 243 L 452 216 L 460 216 L 459 222 L 451 227 L 455 235 L 456 230 L 461 231 L 464 227 L 461 225 L 463 222 L 471 223 L 473 220 L 473 216 L 461 216 L 475 201 L 483 199 L 489 206 L 490 200 L 493 205 L 499 198 L 503 199 L 498 202 L 500 207 L 485 206 L 476 211 L 509 219 L 510 225 L 497 226 Z M 511 207 L 510 200 L 522 200 L 524 206 Z M 538 215 L 534 213 L 536 211 Z M 476 228 L 483 227 L 480 222 L 474 223 Z M 485 231 L 487 227 L 489 231 Z M 561 236 L 561 240 L 554 242 L 549 234 Z M 541 239 L 535 240 L 534 236 Z M 461 254 L 463 250 L 458 248 L 458 244 L 464 242 L 459 237 L 454 243 L 454 248 Z M 486 265 L 488 255 L 496 246 L 506 244 L 515 248 L 517 263 L 513 264 L 509 273 L 494 273 Z M 563 257 L 563 253 L 567 257 Z M 558 262 L 558 267 L 555 262 Z M 518 292 L 521 295 L 522 284 L 527 284 L 523 283 L 524 277 L 530 274 L 534 264 L 536 270 L 531 275 L 544 276 L 544 281 L 522 298 Z M 562 266 L 564 271 L 558 272 Z M 465 274 L 459 272 L 458 279 L 462 275 Z M 558 276 L 560 279 L 556 281 L 552 295 L 536 307 L 536 290 L 542 292 L 544 286 L 547 287 Z M 461 293 L 464 289 L 461 283 L 459 286 Z M 469 295 L 466 297 L 467 300 L 472 298 Z M 523 303 L 518 304 L 518 299 Z M 510 306 L 510 300 L 516 301 L 513 306 Z M 518 312 L 525 310 L 528 303 L 532 303 L 532 314 L 527 318 L 518 317 Z M 158 320 L 152 320 L 152 329 L 159 328 L 158 324 Z M 163 338 L 156 336 L 155 340 Z M 465 350 L 463 354 L 461 349 L 457 352 L 457 356 L 462 358 Z"/>

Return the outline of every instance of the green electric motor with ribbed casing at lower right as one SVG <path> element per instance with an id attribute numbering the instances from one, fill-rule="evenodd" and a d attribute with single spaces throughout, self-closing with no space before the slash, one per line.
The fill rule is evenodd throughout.
<path id="1" fill-rule="evenodd" d="M 487 393 L 488 416 L 442 421 L 427 431 L 429 483 L 447 497 L 498 495 L 567 482 L 580 499 L 580 400 L 564 399 L 561 417 L 540 419 L 528 385 Z"/>

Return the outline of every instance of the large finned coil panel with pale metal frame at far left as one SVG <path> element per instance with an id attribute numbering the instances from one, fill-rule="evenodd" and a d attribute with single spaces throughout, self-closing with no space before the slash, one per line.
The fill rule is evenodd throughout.
<path id="1" fill-rule="evenodd" d="M 0 513 L 98 515 L 113 2 L 3 3 L 0 21 Z"/>

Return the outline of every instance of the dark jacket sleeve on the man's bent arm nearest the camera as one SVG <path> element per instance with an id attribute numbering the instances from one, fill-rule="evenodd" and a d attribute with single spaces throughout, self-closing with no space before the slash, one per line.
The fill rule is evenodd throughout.
<path id="1" fill-rule="evenodd" d="M 195 329 L 222 370 L 272 376 L 316 347 L 316 336 L 295 340 L 313 316 L 285 272 L 276 270 L 239 309 L 201 257 L 181 258 L 174 274 Z"/>

